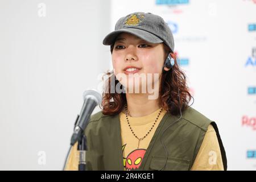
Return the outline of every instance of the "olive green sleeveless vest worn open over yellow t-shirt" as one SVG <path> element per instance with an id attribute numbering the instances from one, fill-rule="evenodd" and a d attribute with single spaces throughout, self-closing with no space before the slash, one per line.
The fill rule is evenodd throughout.
<path id="1" fill-rule="evenodd" d="M 211 123 L 220 144 L 224 169 L 227 168 L 226 154 L 215 122 L 192 107 L 180 115 L 166 113 L 160 121 L 144 154 L 138 170 L 189 170 L 191 169 L 204 135 Z M 179 121 L 175 122 L 177 119 Z M 171 126 L 170 126 L 171 125 Z M 170 127 L 168 127 L 170 126 Z M 120 170 L 123 171 L 123 153 L 119 114 L 93 114 L 85 130 L 88 150 L 86 151 L 86 170 Z M 162 135 L 163 131 L 167 129 Z M 168 151 L 161 143 L 160 137 Z M 166 163 L 167 159 L 167 163 Z"/>

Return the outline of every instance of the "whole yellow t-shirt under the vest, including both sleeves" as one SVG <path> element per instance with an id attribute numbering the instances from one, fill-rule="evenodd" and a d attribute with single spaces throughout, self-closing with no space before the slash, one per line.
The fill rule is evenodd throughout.
<path id="1" fill-rule="evenodd" d="M 146 135 L 147 132 L 151 129 L 157 115 L 159 114 L 159 111 L 160 109 L 143 117 L 128 116 L 131 129 L 133 129 L 134 133 L 137 135 L 138 138 L 143 138 L 144 135 Z M 124 170 L 136 169 L 141 165 L 148 144 L 150 143 L 150 140 L 154 135 L 155 130 L 158 127 L 159 122 L 162 120 L 164 114 L 166 114 L 165 110 L 163 110 L 162 113 L 159 115 L 155 126 L 152 128 L 147 137 L 139 142 L 139 148 L 139 140 L 135 138 L 133 133 L 131 132 L 126 120 L 125 113 L 121 112 L 119 114 L 121 122 Z M 76 143 L 71 150 L 71 154 L 69 155 L 65 170 L 77 170 L 78 163 L 79 152 L 77 151 Z M 203 143 L 201 144 L 200 150 L 196 156 L 195 162 L 193 163 L 191 170 L 224 170 L 220 146 L 218 144 L 216 132 L 212 125 L 208 126 L 208 130 L 205 133 Z"/>

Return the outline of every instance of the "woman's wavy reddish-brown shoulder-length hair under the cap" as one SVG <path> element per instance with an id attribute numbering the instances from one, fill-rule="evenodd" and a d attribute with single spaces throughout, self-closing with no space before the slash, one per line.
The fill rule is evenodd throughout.
<path id="1" fill-rule="evenodd" d="M 171 53 L 171 56 L 175 60 L 175 64 L 170 71 L 163 71 L 162 76 L 160 77 L 159 103 L 164 110 L 172 115 L 177 115 L 180 113 L 180 110 L 183 111 L 188 107 L 188 103 L 191 101 L 192 96 L 189 93 L 185 73 L 181 71 L 179 65 L 177 64 L 176 55 L 168 46 L 166 46 L 165 43 L 163 43 L 163 46 L 165 57 L 167 57 L 168 53 Z M 111 53 L 113 53 L 113 48 L 114 44 L 110 46 Z M 107 86 L 104 88 L 105 91 L 102 93 L 102 102 L 100 108 L 102 109 L 102 113 L 105 115 L 119 114 L 127 103 L 126 94 L 123 92 L 111 93 L 111 79 L 114 79 L 114 86 L 121 84 L 110 71 L 107 71 L 104 76 L 108 76 L 108 79 L 106 80 Z M 122 85 L 121 89 L 123 89 Z"/>

